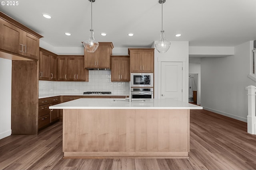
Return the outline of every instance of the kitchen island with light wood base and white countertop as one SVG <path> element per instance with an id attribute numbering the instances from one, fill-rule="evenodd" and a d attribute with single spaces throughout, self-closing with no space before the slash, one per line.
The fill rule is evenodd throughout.
<path id="1" fill-rule="evenodd" d="M 63 109 L 64 158 L 188 158 L 190 109 L 173 99 L 87 99 Z"/>

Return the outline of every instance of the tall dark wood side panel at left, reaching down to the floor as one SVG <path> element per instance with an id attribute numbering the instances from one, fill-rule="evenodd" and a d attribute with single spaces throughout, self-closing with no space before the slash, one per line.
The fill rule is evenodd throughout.
<path id="1" fill-rule="evenodd" d="M 38 133 L 38 61 L 12 61 L 12 134 Z"/>

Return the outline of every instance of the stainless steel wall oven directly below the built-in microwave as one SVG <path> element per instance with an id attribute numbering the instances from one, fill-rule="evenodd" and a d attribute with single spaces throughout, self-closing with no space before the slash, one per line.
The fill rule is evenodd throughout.
<path id="1" fill-rule="evenodd" d="M 152 99 L 153 88 L 131 88 L 132 99 Z"/>

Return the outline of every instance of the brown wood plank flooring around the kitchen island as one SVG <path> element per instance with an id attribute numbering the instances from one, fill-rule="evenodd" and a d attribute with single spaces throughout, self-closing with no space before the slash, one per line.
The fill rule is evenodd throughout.
<path id="1" fill-rule="evenodd" d="M 206 110 L 190 110 L 188 159 L 63 159 L 62 122 L 39 135 L 0 140 L 1 170 L 252 170 L 256 135 L 247 124 Z"/>

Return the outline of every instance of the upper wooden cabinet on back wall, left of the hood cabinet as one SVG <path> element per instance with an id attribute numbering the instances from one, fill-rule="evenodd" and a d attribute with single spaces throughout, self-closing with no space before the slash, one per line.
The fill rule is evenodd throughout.
<path id="1" fill-rule="evenodd" d="M 58 57 L 59 81 L 86 81 L 89 80 L 89 71 L 84 68 L 83 56 Z"/>

